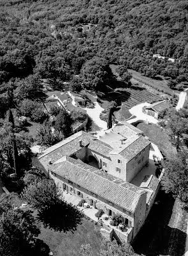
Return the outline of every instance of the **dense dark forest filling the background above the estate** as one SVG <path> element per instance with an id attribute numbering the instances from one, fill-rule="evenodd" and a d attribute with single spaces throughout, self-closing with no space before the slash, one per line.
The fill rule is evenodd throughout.
<path id="1" fill-rule="evenodd" d="M 40 78 L 62 88 L 80 74 L 85 88 L 101 88 L 112 75 L 109 63 L 188 78 L 188 1 L 2 0 L 0 9 L 2 113 L 36 100 Z"/>

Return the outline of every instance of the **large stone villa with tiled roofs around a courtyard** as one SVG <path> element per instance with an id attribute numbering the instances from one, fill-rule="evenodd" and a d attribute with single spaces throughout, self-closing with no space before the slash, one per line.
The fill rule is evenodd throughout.
<path id="1" fill-rule="evenodd" d="M 127 122 L 93 136 L 84 131 L 47 148 L 38 157 L 41 169 L 64 191 L 84 198 L 108 216 L 121 214 L 124 241 L 133 241 L 154 203 L 159 179 L 131 180 L 148 164 L 150 141 Z"/>

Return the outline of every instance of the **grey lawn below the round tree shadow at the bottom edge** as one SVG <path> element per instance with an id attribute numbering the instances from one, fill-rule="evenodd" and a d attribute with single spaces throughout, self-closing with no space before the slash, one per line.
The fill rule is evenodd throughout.
<path id="1" fill-rule="evenodd" d="M 66 233 L 42 226 L 39 238 L 48 244 L 54 256 L 77 256 L 80 246 L 85 243 L 89 243 L 94 255 L 97 255 L 101 245 L 100 228 L 99 225 L 94 225 L 94 222 L 83 218 L 82 224 L 78 225 L 75 231 Z"/>

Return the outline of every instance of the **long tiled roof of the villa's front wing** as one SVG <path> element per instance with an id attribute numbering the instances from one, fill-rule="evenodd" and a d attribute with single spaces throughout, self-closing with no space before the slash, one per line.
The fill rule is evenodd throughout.
<path id="1" fill-rule="evenodd" d="M 128 187 L 125 184 L 121 186 L 90 172 L 80 164 L 76 164 L 76 160 L 71 157 L 66 157 L 66 161 L 62 163 L 50 165 L 50 170 L 130 212 L 135 211 L 140 196 L 146 193 L 144 189 L 137 188 L 133 184 L 131 187 L 135 188 L 130 189 L 130 184 L 127 185 Z"/>

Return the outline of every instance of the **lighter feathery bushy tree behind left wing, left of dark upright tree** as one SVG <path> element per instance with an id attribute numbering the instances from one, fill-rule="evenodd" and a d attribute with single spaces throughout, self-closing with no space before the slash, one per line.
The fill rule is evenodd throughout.
<path id="1" fill-rule="evenodd" d="M 49 122 L 44 122 L 38 127 L 36 139 L 40 145 L 52 146 L 64 139 L 61 131 L 52 129 L 52 125 Z"/>

